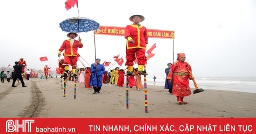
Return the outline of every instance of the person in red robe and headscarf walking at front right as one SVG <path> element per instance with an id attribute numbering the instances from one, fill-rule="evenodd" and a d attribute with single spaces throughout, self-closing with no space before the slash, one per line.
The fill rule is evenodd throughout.
<path id="1" fill-rule="evenodd" d="M 191 77 L 187 70 L 189 68 L 191 71 L 191 67 L 188 62 L 185 62 L 185 54 L 179 53 L 177 60 L 172 64 L 167 79 L 173 83 L 172 94 L 177 96 L 177 104 L 186 104 L 183 98 L 191 94 L 189 80 L 194 80 L 194 77 Z"/>

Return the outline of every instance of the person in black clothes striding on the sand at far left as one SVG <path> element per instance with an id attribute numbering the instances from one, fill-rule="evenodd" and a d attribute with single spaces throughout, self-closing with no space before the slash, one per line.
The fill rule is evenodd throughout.
<path id="1" fill-rule="evenodd" d="M 13 78 L 12 87 L 17 87 L 14 84 L 15 84 L 15 82 L 18 78 L 20 79 L 22 87 L 27 87 L 27 86 L 25 86 L 25 83 L 24 83 L 22 75 L 21 75 L 22 74 L 22 67 L 25 67 L 25 66 L 24 65 L 18 65 L 19 64 L 18 61 L 15 61 L 14 63 L 15 63 L 15 65 L 13 66 L 13 68 L 14 68 L 14 72 L 13 72 L 14 78 Z"/>

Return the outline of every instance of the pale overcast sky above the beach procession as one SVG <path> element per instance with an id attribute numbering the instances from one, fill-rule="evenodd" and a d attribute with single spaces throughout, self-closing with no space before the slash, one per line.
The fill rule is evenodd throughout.
<path id="1" fill-rule="evenodd" d="M 168 1 L 168 3 L 166 3 Z M 14 65 L 23 57 L 28 68 L 58 66 L 58 49 L 67 33 L 59 23 L 78 16 L 77 7 L 66 10 L 66 0 L 4 0 L 0 8 L 0 67 Z M 156 43 L 148 60 L 148 77 L 165 77 L 168 62 L 185 53 L 194 77 L 256 76 L 256 0 L 78 0 L 79 16 L 104 26 L 125 27 L 129 17 L 141 14 L 148 29 L 174 30 L 173 40 L 149 38 Z M 80 33 L 83 48 L 79 54 L 89 64 L 96 57 L 112 62 L 120 54 L 125 59 L 123 36 Z M 39 58 L 47 56 L 48 61 Z M 81 60 L 85 66 L 89 66 Z M 78 66 L 83 67 L 78 61 Z M 115 64 L 112 68 L 117 67 Z M 136 66 L 135 66 L 136 67 Z M 111 68 L 111 69 L 112 69 Z M 121 68 L 126 68 L 123 64 Z M 109 67 L 106 67 L 108 70 Z"/>

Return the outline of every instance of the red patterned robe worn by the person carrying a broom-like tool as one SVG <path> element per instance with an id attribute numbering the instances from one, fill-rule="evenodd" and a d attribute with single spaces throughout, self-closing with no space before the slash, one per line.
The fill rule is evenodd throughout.
<path id="1" fill-rule="evenodd" d="M 172 64 L 170 68 L 170 72 L 167 76 L 168 80 L 173 80 L 172 93 L 175 96 L 189 96 L 191 94 L 191 90 L 189 87 L 189 72 L 187 70 L 186 65 L 188 65 L 189 70 L 191 71 L 191 67 L 188 62 L 176 61 Z M 174 73 L 188 73 L 188 75 L 173 75 Z"/>

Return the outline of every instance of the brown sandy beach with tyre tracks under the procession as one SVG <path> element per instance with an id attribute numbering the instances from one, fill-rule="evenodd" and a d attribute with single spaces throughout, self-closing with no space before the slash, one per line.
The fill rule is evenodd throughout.
<path id="1" fill-rule="evenodd" d="M 24 81 L 27 87 L 18 82 L 11 87 L 6 80 L 0 83 L 0 117 L 256 117 L 253 93 L 204 89 L 185 97 L 188 104 L 178 105 L 176 96 L 162 86 L 147 85 L 145 113 L 144 91 L 135 87 L 129 88 L 126 107 L 126 84 L 103 84 L 101 94 L 93 94 L 93 88 L 77 83 L 74 99 L 74 81 L 67 81 L 66 97 L 61 79 Z"/>

